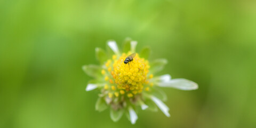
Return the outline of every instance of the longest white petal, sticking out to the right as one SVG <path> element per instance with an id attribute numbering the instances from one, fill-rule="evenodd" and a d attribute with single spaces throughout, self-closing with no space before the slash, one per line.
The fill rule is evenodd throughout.
<path id="1" fill-rule="evenodd" d="M 195 82 L 189 81 L 188 79 L 183 79 L 183 78 L 172 79 L 171 81 L 167 81 L 167 82 L 160 82 L 160 83 L 157 83 L 157 85 L 161 87 L 173 87 L 175 89 L 180 89 L 180 90 L 198 89 L 198 85 Z"/>

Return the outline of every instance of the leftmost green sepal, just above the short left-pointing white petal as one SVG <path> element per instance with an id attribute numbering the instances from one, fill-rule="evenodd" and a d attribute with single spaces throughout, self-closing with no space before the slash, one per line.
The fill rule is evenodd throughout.
<path id="1" fill-rule="evenodd" d="M 101 76 L 101 67 L 96 65 L 87 65 L 83 66 L 82 69 L 84 72 L 94 78 L 98 78 Z"/>

